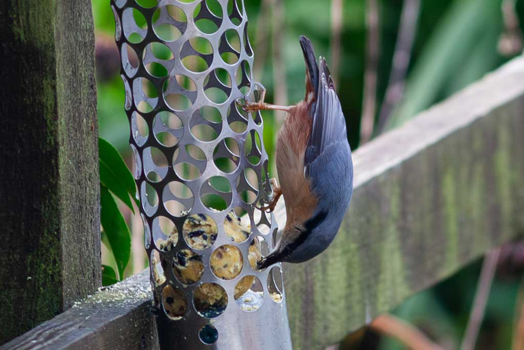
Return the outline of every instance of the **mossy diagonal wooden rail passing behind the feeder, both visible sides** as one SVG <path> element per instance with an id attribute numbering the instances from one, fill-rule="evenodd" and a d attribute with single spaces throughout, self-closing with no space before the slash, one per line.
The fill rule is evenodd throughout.
<path id="1" fill-rule="evenodd" d="M 518 58 L 356 151 L 339 235 L 318 258 L 285 265 L 293 348 L 333 344 L 523 234 L 523 132 Z M 143 272 L 2 348 L 155 347 L 148 290 Z"/>

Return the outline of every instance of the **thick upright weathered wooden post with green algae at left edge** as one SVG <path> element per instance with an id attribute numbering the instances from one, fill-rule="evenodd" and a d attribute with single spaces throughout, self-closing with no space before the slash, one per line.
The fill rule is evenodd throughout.
<path id="1" fill-rule="evenodd" d="M 0 5 L 0 343 L 101 283 L 91 2 Z"/>

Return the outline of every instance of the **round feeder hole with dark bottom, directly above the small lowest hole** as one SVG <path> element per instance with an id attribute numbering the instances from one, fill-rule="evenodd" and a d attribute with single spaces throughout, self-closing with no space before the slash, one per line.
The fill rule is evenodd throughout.
<path id="1" fill-rule="evenodd" d="M 203 283 L 195 289 L 193 305 L 202 317 L 220 316 L 227 307 L 227 293 L 219 284 Z"/>

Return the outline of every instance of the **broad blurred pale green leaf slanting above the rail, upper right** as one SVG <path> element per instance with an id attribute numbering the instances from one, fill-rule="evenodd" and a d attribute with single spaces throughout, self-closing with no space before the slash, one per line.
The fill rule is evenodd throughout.
<path id="1" fill-rule="evenodd" d="M 499 20 L 498 17 L 499 2 L 455 0 L 414 63 L 402 101 L 391 114 L 386 128 L 401 125 L 438 101 L 448 82 L 467 66 L 475 44 L 485 34 L 485 27 Z M 492 47 L 495 51 L 496 41 Z M 493 60 L 489 56 L 482 59 Z"/>

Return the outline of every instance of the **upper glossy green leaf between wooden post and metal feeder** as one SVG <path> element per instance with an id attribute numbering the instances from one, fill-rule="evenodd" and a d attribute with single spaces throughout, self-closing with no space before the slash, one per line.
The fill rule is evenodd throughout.
<path id="1" fill-rule="evenodd" d="M 120 198 L 132 211 L 129 195 L 136 199 L 136 185 L 133 175 L 127 168 L 118 151 L 109 142 L 99 137 L 100 182 Z"/>

